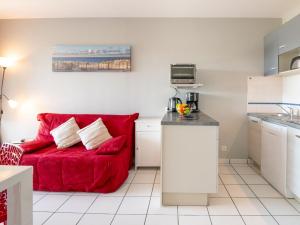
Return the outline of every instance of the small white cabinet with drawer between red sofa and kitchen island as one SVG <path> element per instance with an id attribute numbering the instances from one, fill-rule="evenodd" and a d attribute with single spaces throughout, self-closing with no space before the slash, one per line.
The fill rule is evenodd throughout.
<path id="1" fill-rule="evenodd" d="M 160 127 L 160 118 L 140 118 L 135 121 L 135 168 L 160 166 Z"/>

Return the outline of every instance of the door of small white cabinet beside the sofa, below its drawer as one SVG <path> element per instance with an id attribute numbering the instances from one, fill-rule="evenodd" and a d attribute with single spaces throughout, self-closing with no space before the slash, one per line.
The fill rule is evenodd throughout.
<path id="1" fill-rule="evenodd" d="M 160 166 L 161 133 L 136 132 L 137 166 Z"/>

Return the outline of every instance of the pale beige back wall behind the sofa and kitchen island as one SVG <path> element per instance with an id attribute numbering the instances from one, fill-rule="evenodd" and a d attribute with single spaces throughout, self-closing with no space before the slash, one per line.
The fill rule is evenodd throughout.
<path id="1" fill-rule="evenodd" d="M 220 121 L 221 157 L 247 157 L 247 77 L 263 74 L 263 37 L 280 19 L 35 19 L 0 20 L 0 55 L 15 54 L 5 92 L 4 140 L 32 137 L 35 115 L 132 113 L 161 116 L 169 64 L 196 63 L 205 86 L 200 107 Z M 55 44 L 130 44 L 132 72 L 53 73 Z"/>

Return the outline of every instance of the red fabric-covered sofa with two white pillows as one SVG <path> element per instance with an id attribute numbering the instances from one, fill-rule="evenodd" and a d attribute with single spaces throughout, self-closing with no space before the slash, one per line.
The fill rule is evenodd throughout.
<path id="1" fill-rule="evenodd" d="M 80 128 L 97 118 L 113 137 L 125 135 L 126 144 L 113 154 L 87 151 L 82 143 L 58 150 L 50 131 L 74 117 Z M 82 191 L 108 193 L 116 191 L 126 180 L 132 164 L 134 120 L 132 115 L 53 114 L 38 115 L 40 128 L 34 141 L 24 143 L 21 165 L 34 168 L 33 187 L 41 191 Z M 114 146 L 116 147 L 116 146 Z"/>

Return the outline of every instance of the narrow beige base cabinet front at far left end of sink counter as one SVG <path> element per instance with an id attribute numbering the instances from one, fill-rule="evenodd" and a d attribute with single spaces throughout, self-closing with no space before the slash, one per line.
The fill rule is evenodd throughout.
<path id="1" fill-rule="evenodd" d="M 249 157 L 261 165 L 261 119 L 248 117 L 248 152 Z"/>

